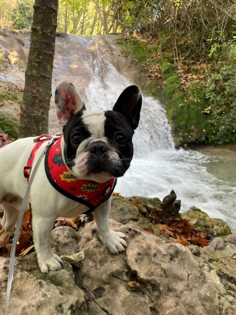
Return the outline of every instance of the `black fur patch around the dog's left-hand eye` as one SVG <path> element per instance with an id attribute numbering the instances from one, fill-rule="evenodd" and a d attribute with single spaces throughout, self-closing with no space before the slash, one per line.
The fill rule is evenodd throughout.
<path id="1" fill-rule="evenodd" d="M 83 111 L 77 112 L 69 122 L 64 126 L 63 133 L 64 133 L 64 140 L 65 140 L 65 147 L 64 147 L 64 157 L 65 163 L 71 169 L 72 166 L 75 165 L 74 159 L 76 157 L 76 151 L 78 149 L 78 145 L 73 143 L 72 139 L 74 135 L 79 134 L 82 140 L 91 136 L 91 133 L 87 129 L 87 126 L 84 124 L 81 116 L 83 115 Z"/>

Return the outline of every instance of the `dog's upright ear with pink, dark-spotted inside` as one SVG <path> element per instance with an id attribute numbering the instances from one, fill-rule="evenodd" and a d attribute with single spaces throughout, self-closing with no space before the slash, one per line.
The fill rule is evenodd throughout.
<path id="1" fill-rule="evenodd" d="M 65 125 L 70 118 L 85 109 L 84 101 L 74 85 L 68 81 L 61 81 L 55 91 L 55 105 L 57 121 Z"/>

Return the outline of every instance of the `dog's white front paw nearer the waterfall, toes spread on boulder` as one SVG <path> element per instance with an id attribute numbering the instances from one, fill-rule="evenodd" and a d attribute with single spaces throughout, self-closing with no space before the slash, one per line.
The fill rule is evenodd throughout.
<path id="1" fill-rule="evenodd" d="M 125 237 L 126 235 L 124 233 L 112 230 L 102 235 L 103 243 L 113 254 L 118 254 L 125 250 L 124 246 L 127 247 L 126 241 L 123 239 Z"/>

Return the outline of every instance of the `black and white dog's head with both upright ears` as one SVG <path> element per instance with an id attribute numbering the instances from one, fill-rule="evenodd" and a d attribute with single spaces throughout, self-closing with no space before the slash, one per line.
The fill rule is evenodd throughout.
<path id="1" fill-rule="evenodd" d="M 56 113 L 63 123 L 67 167 L 78 178 L 104 182 L 123 176 L 133 156 L 132 137 L 138 127 L 142 95 L 126 88 L 112 111 L 86 110 L 72 83 L 62 81 L 55 91 Z"/>

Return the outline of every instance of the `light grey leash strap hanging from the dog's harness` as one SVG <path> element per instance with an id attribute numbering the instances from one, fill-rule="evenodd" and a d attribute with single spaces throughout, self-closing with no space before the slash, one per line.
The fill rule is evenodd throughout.
<path id="1" fill-rule="evenodd" d="M 20 208 L 20 213 L 19 213 L 19 216 L 18 216 L 16 228 L 15 228 L 15 234 L 14 234 L 14 238 L 13 238 L 13 243 L 12 243 L 12 248 L 11 248 L 11 255 L 10 255 L 10 261 L 9 261 L 9 272 L 8 272 L 8 282 L 7 282 L 7 297 L 6 297 L 6 315 L 7 315 L 7 311 L 8 311 L 8 300 L 9 300 L 9 295 L 10 295 L 11 285 L 12 285 L 12 279 L 13 279 L 13 274 L 14 274 L 15 250 L 16 250 L 16 245 L 17 245 L 17 241 L 18 241 L 18 236 L 19 236 L 19 233 L 20 233 L 21 223 L 22 223 L 22 220 L 23 220 L 24 212 L 25 212 L 25 209 L 26 209 L 26 205 L 28 203 L 29 195 L 30 195 L 30 188 L 31 188 L 31 185 L 32 185 L 32 181 L 33 181 L 33 179 L 35 177 L 37 168 L 39 166 L 39 163 L 42 160 L 42 157 L 44 156 L 44 154 L 46 153 L 48 146 L 50 146 L 53 143 L 53 140 L 55 138 L 57 138 L 57 134 L 54 135 L 51 138 L 51 140 L 45 146 L 45 148 L 43 149 L 43 151 L 40 154 L 39 158 L 37 159 L 37 162 L 36 162 L 34 168 L 32 169 L 32 173 L 30 175 L 28 187 L 27 187 L 26 192 L 25 192 L 25 197 L 23 199 L 23 202 L 22 202 L 22 205 L 21 205 L 21 208 Z"/>

